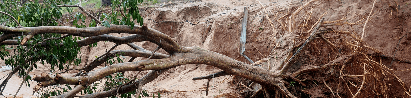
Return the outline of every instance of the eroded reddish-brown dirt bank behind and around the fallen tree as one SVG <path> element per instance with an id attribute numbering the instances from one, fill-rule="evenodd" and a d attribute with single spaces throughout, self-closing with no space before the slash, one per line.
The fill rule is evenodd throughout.
<path id="1" fill-rule="evenodd" d="M 365 45 L 374 47 L 381 51 L 380 54 L 372 50 L 361 51 L 366 53 L 370 59 L 379 62 L 386 67 L 396 70 L 393 74 L 384 73 L 371 76 L 357 97 L 388 97 L 398 98 L 407 96 L 411 85 L 411 76 L 409 76 L 411 60 L 411 14 L 410 1 L 386 1 L 377 0 L 372 13 L 370 13 L 373 2 L 370 0 L 312 0 L 310 4 L 303 7 L 309 1 L 303 0 L 279 0 L 279 1 L 261 1 L 269 18 L 275 26 L 275 37 L 272 27 L 268 22 L 266 13 L 261 5 L 254 0 L 202 0 L 191 2 L 163 2 L 161 7 L 141 8 L 141 14 L 144 15 L 145 23 L 148 27 L 161 31 L 173 38 L 178 44 L 186 47 L 200 46 L 203 49 L 215 51 L 229 56 L 242 62 L 247 62 L 240 56 L 239 36 L 241 22 L 243 18 L 243 8 L 249 7 L 248 25 L 247 25 L 247 44 L 245 54 L 254 62 L 262 58 L 270 58 L 269 62 L 264 62 L 263 68 L 270 66 L 272 69 L 278 68 L 287 56 L 287 51 L 294 45 L 302 44 L 309 36 L 308 32 L 319 18 L 325 18 L 324 21 L 336 21 L 335 24 L 351 23 L 353 25 L 334 25 L 322 28 L 330 28 L 334 31 L 347 31 L 361 38 L 367 16 L 370 15 L 369 21 L 365 26 L 363 40 Z M 299 13 L 293 15 L 299 7 L 303 7 Z M 284 16 L 284 17 L 283 17 Z M 293 17 L 290 17 L 293 16 Z M 291 23 L 289 23 L 289 20 Z M 281 23 L 281 24 L 280 24 Z M 193 25 L 196 24 L 196 25 Z M 289 28 L 292 31 L 289 31 Z M 129 36 L 127 34 L 110 34 L 113 36 Z M 353 41 L 347 34 L 326 33 L 324 34 L 330 42 L 337 47 L 332 47 L 321 39 L 312 41 L 304 50 L 298 61 L 291 67 L 290 72 L 301 69 L 312 68 L 332 62 L 338 56 L 352 54 L 351 50 L 358 47 L 347 45 L 359 45 L 358 41 Z M 277 42 L 277 47 L 275 43 Z M 349 42 L 349 43 L 346 43 Z M 106 52 L 107 49 L 114 46 L 110 42 L 98 42 L 97 47 L 83 47 L 82 58 L 87 58 L 88 62 Z M 136 42 L 150 51 L 154 50 L 157 45 L 150 42 Z M 131 49 L 127 45 L 120 45 L 116 49 Z M 158 51 L 166 53 L 163 50 Z M 395 59 L 393 59 L 393 57 Z M 354 57 L 355 59 L 356 57 Z M 358 57 L 359 58 L 359 57 Z M 128 61 L 129 58 L 125 59 Z M 146 58 L 137 58 L 144 60 Z M 405 62 L 404 62 L 405 61 Z M 86 61 L 83 61 L 85 64 Z M 360 65 L 360 66 L 358 66 Z M 84 66 L 84 65 L 83 65 Z M 104 66 L 104 65 L 102 65 Z M 101 68 L 101 67 L 100 67 Z M 47 65 L 35 69 L 32 74 L 47 72 Z M 335 66 L 316 73 L 307 73 L 302 75 L 301 84 L 291 83 L 287 89 L 296 97 L 326 97 L 326 98 L 348 98 L 353 97 L 362 84 L 362 77 L 346 78 L 339 80 L 340 72 L 349 75 L 361 75 L 364 73 L 362 64 L 353 63 L 346 65 L 344 71 L 340 71 L 342 66 Z M 146 84 L 143 89 L 149 92 L 160 91 L 168 97 L 177 98 L 214 98 L 226 96 L 249 97 L 249 93 L 242 96 L 241 91 L 247 91 L 245 87 L 239 85 L 239 82 L 249 85 L 251 82 L 244 82 L 242 78 L 233 78 L 234 76 L 223 76 L 214 78 L 210 81 L 210 91 L 205 96 L 205 85 L 207 80 L 193 81 L 192 78 L 206 76 L 210 73 L 221 71 L 208 65 L 183 65 L 170 69 L 163 73 L 156 80 Z M 372 70 L 368 70 L 371 71 Z M 9 71 L 2 72 L 4 76 Z M 145 74 L 142 72 L 140 74 Z M 126 72 L 126 76 L 134 76 L 136 72 Z M 395 77 L 398 76 L 398 78 Z M 143 75 L 140 75 L 142 77 Z M 17 85 L 9 84 L 6 88 L 6 94 L 14 94 L 17 90 L 20 80 L 15 76 L 13 82 Z M 375 80 L 373 80 L 375 79 Z M 324 81 L 323 81 L 324 80 Z M 295 82 L 292 79 L 288 82 Z M 343 81 L 343 82 L 342 82 Z M 402 81 L 403 83 L 399 82 Z M 326 82 L 327 85 L 324 84 Z M 33 82 L 32 84 L 34 84 Z M 348 88 L 347 88 L 348 87 Z M 23 87 L 24 89 L 24 87 Z M 31 90 L 31 91 L 30 91 Z M 376 92 L 373 92 L 376 91 Z M 23 93 L 24 92 L 24 93 Z M 20 91 L 21 97 L 31 98 L 32 89 L 26 88 Z M 230 95 L 233 94 L 233 95 Z M 337 95 L 338 94 L 338 95 Z M 6 95 L 7 97 L 9 95 Z M 261 97 L 261 96 L 259 96 Z"/>

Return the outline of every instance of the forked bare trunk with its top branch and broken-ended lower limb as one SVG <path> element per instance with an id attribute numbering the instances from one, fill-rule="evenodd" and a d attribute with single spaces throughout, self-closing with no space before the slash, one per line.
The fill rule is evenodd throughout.
<path id="1" fill-rule="evenodd" d="M 131 33 L 139 34 L 150 39 L 150 42 L 161 45 L 162 49 L 170 53 L 171 55 L 167 58 L 162 59 L 152 59 L 152 60 L 140 60 L 137 62 L 125 62 L 114 64 L 111 66 L 106 66 L 102 69 L 91 71 L 87 73 L 87 76 L 44 76 L 51 79 L 44 80 L 43 76 L 35 78 L 40 82 L 38 85 L 40 87 L 57 85 L 57 84 L 72 84 L 72 85 L 82 85 L 88 86 L 93 82 L 104 78 L 112 73 L 122 72 L 122 71 L 143 71 L 143 70 L 162 70 L 169 69 L 172 67 L 177 67 L 180 65 L 187 64 L 205 64 L 222 69 L 228 74 L 236 74 L 238 76 L 252 80 L 260 85 L 284 85 L 282 76 L 271 71 L 248 65 L 244 62 L 234 60 L 228 56 L 215 53 L 213 51 L 208 51 L 201 49 L 199 47 L 183 47 L 178 45 L 169 36 L 156 31 L 154 29 L 147 28 L 145 26 L 135 26 L 134 29 L 130 29 L 127 25 L 111 25 L 111 27 L 106 28 L 104 26 L 90 27 L 90 28 L 74 28 L 74 27 L 64 27 L 64 26 L 44 26 L 44 27 L 22 27 L 22 28 L 12 28 L 0 25 L 0 31 L 5 33 L 19 33 L 21 35 L 37 35 L 42 33 L 62 33 L 69 34 L 73 36 L 99 36 L 108 33 Z M 4 38 L 4 36 L 0 36 Z M 131 44 L 128 44 L 132 46 Z M 138 47 L 136 47 L 138 49 Z M 148 53 L 150 54 L 150 53 Z M 149 57 L 149 56 L 148 56 Z M 153 56 L 155 57 L 155 56 Z M 105 60 L 104 60 L 105 61 Z M 98 65 L 97 65 L 98 66 Z M 91 68 L 94 67 L 90 67 Z M 279 86 L 279 85 L 277 85 Z M 281 87 L 279 87 L 281 88 Z M 77 89 L 77 88 L 76 88 Z M 285 89 L 286 90 L 286 89 Z M 79 90 L 80 91 L 80 90 Z M 73 96 L 79 91 L 70 91 L 66 96 Z M 283 89 L 284 91 L 284 89 Z M 288 91 L 286 91 L 288 92 Z M 286 93 L 284 92 L 284 93 Z M 288 95 L 288 94 L 287 94 Z M 61 95 L 62 96 L 62 95 Z M 291 95 L 292 96 L 292 95 Z M 292 96 L 293 97 L 293 96 Z"/>

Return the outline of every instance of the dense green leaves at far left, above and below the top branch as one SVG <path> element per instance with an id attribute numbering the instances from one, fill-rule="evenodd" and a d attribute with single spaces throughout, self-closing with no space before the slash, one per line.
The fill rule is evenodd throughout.
<path id="1" fill-rule="evenodd" d="M 55 18 L 59 19 L 62 16 L 61 8 L 56 7 L 60 3 L 67 3 L 69 0 L 45 0 L 39 2 L 34 0 L 33 2 L 19 2 L 15 0 L 5 0 L 4 4 L 0 5 L 0 11 L 11 14 L 17 18 L 18 22 L 24 27 L 37 27 L 37 26 L 57 26 L 58 22 Z M 2 25 L 9 27 L 18 26 L 16 22 L 10 20 L 8 16 L 1 15 L 0 22 Z M 4 32 L 0 32 L 2 34 Z M 67 69 L 71 63 L 74 62 L 75 65 L 79 65 L 81 62 L 80 58 L 77 58 L 77 54 L 80 47 L 77 47 L 75 42 L 77 39 L 73 36 L 68 36 L 66 38 L 61 38 L 60 40 L 44 40 L 46 38 L 59 38 L 62 34 L 40 34 L 35 35 L 31 41 L 28 42 L 27 46 L 11 46 L 11 48 L 6 48 L 5 45 L 0 47 L 1 58 L 8 56 L 7 51 L 3 50 L 14 50 L 16 55 L 13 55 L 5 59 L 6 65 L 11 65 L 14 68 L 21 66 L 18 70 L 20 76 L 24 76 L 26 72 L 24 70 L 28 69 L 29 65 L 35 62 L 46 61 L 51 64 L 51 72 L 55 71 L 54 68 L 57 67 L 59 70 Z M 23 37 L 12 38 L 14 40 L 20 41 Z M 41 46 L 40 44 L 46 42 L 46 46 Z M 55 43 L 62 43 L 63 47 L 56 46 Z M 34 64 L 37 68 L 37 65 Z M 27 80 L 31 80 L 28 77 Z M 28 84 L 30 85 L 30 84 Z"/>

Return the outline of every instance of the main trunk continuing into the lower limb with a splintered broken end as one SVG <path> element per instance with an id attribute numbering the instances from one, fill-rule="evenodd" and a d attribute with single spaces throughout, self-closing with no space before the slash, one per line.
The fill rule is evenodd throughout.
<path id="1" fill-rule="evenodd" d="M 276 83 L 283 83 L 282 77 L 271 71 L 261 69 L 259 67 L 248 65 L 229 58 L 227 56 L 201 49 L 199 47 L 185 47 L 189 52 L 174 53 L 171 56 L 163 59 L 140 60 L 137 62 L 124 62 L 106 66 L 102 69 L 91 71 L 87 76 L 50 76 L 53 80 L 41 81 L 42 79 L 34 79 L 40 82 L 39 85 L 48 86 L 56 84 L 73 84 L 87 86 L 91 83 L 104 78 L 112 73 L 122 71 L 143 71 L 143 70 L 161 70 L 177 67 L 187 64 L 206 64 L 217 67 L 230 74 L 253 80 L 261 85 L 276 85 Z M 74 92 L 76 94 L 76 92 Z"/>

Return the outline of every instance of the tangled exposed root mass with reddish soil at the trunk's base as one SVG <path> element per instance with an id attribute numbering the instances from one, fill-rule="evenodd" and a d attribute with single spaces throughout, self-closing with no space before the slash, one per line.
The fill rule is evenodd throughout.
<path id="1" fill-rule="evenodd" d="M 313 9 L 321 9 L 315 7 L 317 5 L 316 1 L 311 0 L 298 7 L 293 14 L 288 12 L 287 9 L 274 13 L 275 19 L 281 16 L 278 20 L 275 20 L 277 21 L 275 25 L 281 26 L 277 30 L 288 31 L 288 33 L 297 32 L 296 35 L 298 35 L 293 38 L 296 45 L 292 45 L 288 49 L 289 52 L 285 53 L 289 55 L 285 55 L 280 60 L 281 65 L 279 68 L 271 70 L 278 72 L 275 70 L 284 69 L 283 65 L 291 66 L 290 69 L 285 68 L 285 72 L 279 72 L 284 75 L 282 80 L 286 82 L 277 83 L 277 85 L 271 87 L 264 85 L 254 91 L 244 86 L 237 86 L 236 89 L 242 90 L 240 94 L 244 97 L 277 98 L 279 96 L 290 97 L 287 94 L 287 91 L 290 91 L 291 97 L 389 98 L 392 92 L 392 89 L 389 87 L 395 84 L 401 87 L 404 96 L 411 96 L 405 83 L 395 72 L 404 70 L 390 69 L 387 65 L 383 64 L 384 58 L 393 60 L 394 57 L 386 57 L 383 55 L 383 52 L 368 45 L 363 41 L 362 33 L 358 34 L 354 30 L 353 26 L 363 26 L 369 19 L 363 17 L 358 20 L 350 20 L 353 22 L 348 22 L 346 15 L 344 15 L 340 20 L 320 22 L 321 18 L 326 17 L 326 13 L 317 14 L 319 16 L 313 15 Z M 305 7 L 311 7 L 311 11 L 300 12 Z M 284 16 L 281 14 L 284 14 Z M 374 14 L 369 13 L 368 15 L 373 16 Z M 286 17 L 289 17 L 289 19 L 284 19 Z M 309 22 L 313 20 L 314 22 Z M 319 25 L 320 28 L 318 31 L 315 31 L 314 27 L 319 22 L 321 23 Z M 288 26 L 282 24 L 288 24 Z M 285 30 L 282 30 L 282 28 Z M 364 28 L 361 27 L 360 29 L 363 30 Z M 316 33 L 313 37 L 309 37 L 312 36 L 310 35 L 312 30 Z M 313 38 L 313 40 L 307 44 L 307 47 L 301 47 L 303 43 L 307 42 L 307 38 Z M 278 42 L 275 43 L 278 44 Z M 275 50 L 277 48 L 278 46 L 274 48 L 274 53 L 271 54 L 276 54 Z M 302 53 L 295 55 L 298 50 L 301 50 Z M 296 61 L 289 62 L 294 56 Z M 268 62 L 270 62 L 269 60 L 276 59 L 277 57 L 274 55 L 268 56 Z M 264 61 L 266 62 L 267 60 Z M 262 66 L 272 65 L 263 63 Z M 252 87 L 252 81 L 247 79 L 233 78 L 233 82 Z M 283 90 L 282 85 L 286 89 Z M 266 88 L 272 89 L 272 91 L 266 91 Z"/>

